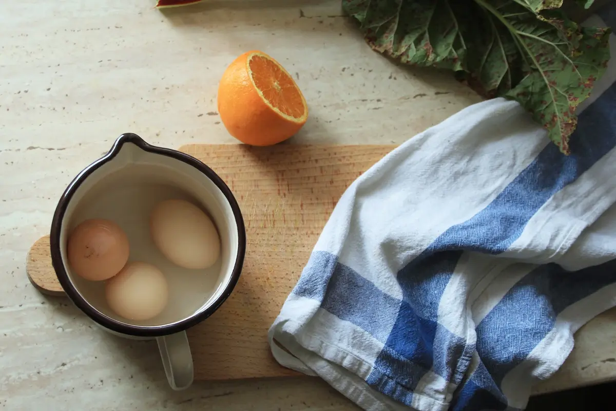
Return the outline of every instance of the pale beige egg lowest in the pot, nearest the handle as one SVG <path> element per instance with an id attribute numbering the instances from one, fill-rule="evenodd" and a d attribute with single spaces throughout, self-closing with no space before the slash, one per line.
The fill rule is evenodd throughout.
<path id="1" fill-rule="evenodd" d="M 167 306 L 169 287 L 164 274 L 147 262 L 129 262 L 105 284 L 107 304 L 128 320 L 149 320 Z"/>

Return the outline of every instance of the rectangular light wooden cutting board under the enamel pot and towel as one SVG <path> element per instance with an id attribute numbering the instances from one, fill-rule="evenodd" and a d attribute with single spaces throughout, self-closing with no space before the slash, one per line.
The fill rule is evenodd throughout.
<path id="1" fill-rule="evenodd" d="M 344 190 L 393 145 L 185 145 L 229 185 L 246 224 L 246 258 L 229 299 L 190 328 L 195 380 L 294 375 L 274 360 L 267 330 L 299 279 Z M 49 236 L 34 243 L 26 272 L 42 292 L 63 295 Z"/>

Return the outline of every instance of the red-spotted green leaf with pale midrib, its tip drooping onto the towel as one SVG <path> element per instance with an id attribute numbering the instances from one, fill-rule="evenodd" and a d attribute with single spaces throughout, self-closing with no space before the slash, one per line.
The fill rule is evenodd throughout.
<path id="1" fill-rule="evenodd" d="M 487 0 L 476 2 L 509 30 L 525 58 L 524 78 L 504 96 L 529 110 L 554 144 L 569 154 L 569 136 L 577 125 L 575 108 L 590 95 L 609 60 L 609 30 L 582 29 L 556 13 L 511 18 L 507 16 L 517 9 L 514 4 L 497 10 Z"/>

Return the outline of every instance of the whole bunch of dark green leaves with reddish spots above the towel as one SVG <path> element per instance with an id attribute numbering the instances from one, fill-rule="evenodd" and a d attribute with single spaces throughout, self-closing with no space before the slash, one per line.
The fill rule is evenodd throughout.
<path id="1" fill-rule="evenodd" d="M 593 0 L 577 0 L 590 7 Z M 609 60 L 609 28 L 582 27 L 562 0 L 342 0 L 373 49 L 453 70 L 485 97 L 516 100 L 570 153 L 575 108 Z"/>

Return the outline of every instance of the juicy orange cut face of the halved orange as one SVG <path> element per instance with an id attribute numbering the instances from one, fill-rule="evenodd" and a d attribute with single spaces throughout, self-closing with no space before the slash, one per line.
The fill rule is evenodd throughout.
<path id="1" fill-rule="evenodd" d="M 253 55 L 248 67 L 254 86 L 272 107 L 292 118 L 304 116 L 306 107 L 298 86 L 277 63 L 262 55 Z"/>

